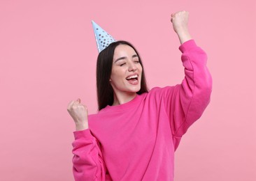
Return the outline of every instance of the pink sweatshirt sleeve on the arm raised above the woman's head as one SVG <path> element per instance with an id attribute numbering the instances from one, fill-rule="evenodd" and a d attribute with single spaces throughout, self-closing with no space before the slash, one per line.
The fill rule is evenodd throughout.
<path id="1" fill-rule="evenodd" d="M 199 119 L 210 102 L 212 90 L 211 74 L 206 67 L 207 55 L 194 40 L 179 47 L 185 68 L 181 84 L 166 88 L 164 104 L 169 116 L 173 143 L 178 147 L 181 136 Z"/>

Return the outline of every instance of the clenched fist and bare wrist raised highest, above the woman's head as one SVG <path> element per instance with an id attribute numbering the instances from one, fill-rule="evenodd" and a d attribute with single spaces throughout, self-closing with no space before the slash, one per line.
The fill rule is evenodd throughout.
<path id="1" fill-rule="evenodd" d="M 171 14 L 171 22 L 173 24 L 173 30 L 178 34 L 180 43 L 192 39 L 188 31 L 188 15 L 185 10 Z"/>

